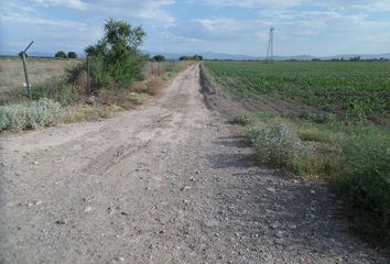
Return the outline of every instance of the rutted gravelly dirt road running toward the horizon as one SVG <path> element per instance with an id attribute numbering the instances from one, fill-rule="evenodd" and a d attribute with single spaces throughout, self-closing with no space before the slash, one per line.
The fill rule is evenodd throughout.
<path id="1" fill-rule="evenodd" d="M 256 166 L 198 76 L 101 122 L 2 136 L 0 263 L 386 263 L 325 184 Z"/>

